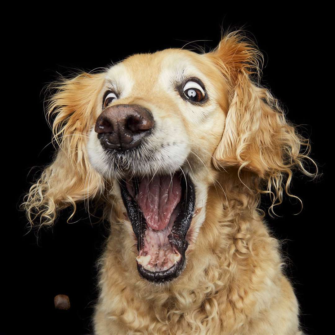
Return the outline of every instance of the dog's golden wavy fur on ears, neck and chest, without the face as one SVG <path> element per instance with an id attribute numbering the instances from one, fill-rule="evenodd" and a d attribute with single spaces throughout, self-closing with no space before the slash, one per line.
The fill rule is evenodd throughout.
<path id="1" fill-rule="evenodd" d="M 291 125 L 277 100 L 253 78 L 262 55 L 240 31 L 222 37 L 204 54 L 227 84 L 222 139 L 212 152 L 211 173 L 223 188 L 208 184 L 206 218 L 187 253 L 183 274 L 168 286 L 140 280 L 134 240 L 121 203 L 106 193 L 104 179 L 87 160 L 87 136 L 103 74 L 64 79 L 50 99 L 55 160 L 30 188 L 24 207 L 29 221 L 50 225 L 57 211 L 85 198 L 109 199 L 113 233 L 100 259 L 101 289 L 96 334 L 299 334 L 298 303 L 278 241 L 259 214 L 260 195 L 271 209 L 289 192 L 294 170 L 305 168 L 310 145 Z M 88 97 L 94 96 L 94 99 Z M 113 197 L 113 199 L 112 199 Z M 112 205 L 113 203 L 113 205 Z M 189 236 L 192 235 L 192 225 Z"/>

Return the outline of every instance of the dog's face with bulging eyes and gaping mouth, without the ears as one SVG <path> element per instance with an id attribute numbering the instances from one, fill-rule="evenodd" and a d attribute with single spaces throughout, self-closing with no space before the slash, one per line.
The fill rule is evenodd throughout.
<path id="1" fill-rule="evenodd" d="M 90 163 L 112 181 L 125 207 L 139 273 L 172 280 L 206 215 L 227 85 L 206 54 L 176 49 L 134 55 L 103 81 L 87 144 Z"/>

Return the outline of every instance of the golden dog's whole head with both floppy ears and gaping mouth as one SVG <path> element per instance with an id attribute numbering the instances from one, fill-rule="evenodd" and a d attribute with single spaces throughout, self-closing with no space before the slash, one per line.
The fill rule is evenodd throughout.
<path id="1" fill-rule="evenodd" d="M 209 188 L 220 206 L 243 203 L 248 192 L 280 202 L 283 176 L 289 184 L 304 158 L 306 143 L 251 78 L 260 56 L 231 33 L 208 53 L 137 54 L 62 80 L 49 106 L 59 150 L 30 189 L 29 219 L 51 224 L 58 209 L 105 201 L 122 231 L 118 250 L 136 258 L 140 275 L 156 283 L 179 276 L 187 250 L 209 233 L 201 230 Z"/>

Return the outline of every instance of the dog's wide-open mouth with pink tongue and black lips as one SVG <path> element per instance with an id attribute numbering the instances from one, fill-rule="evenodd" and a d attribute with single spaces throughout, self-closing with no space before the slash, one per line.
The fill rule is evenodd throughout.
<path id="1" fill-rule="evenodd" d="M 131 178 L 120 182 L 121 196 L 137 238 L 140 275 L 163 283 L 178 277 L 186 266 L 186 233 L 195 206 L 188 175 Z"/>

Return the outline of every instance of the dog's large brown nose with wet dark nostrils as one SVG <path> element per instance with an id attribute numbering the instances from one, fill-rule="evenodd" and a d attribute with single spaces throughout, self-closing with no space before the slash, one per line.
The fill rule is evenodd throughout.
<path id="1" fill-rule="evenodd" d="M 136 148 L 154 125 L 152 114 L 139 105 L 114 105 L 98 117 L 94 131 L 106 149 Z"/>

